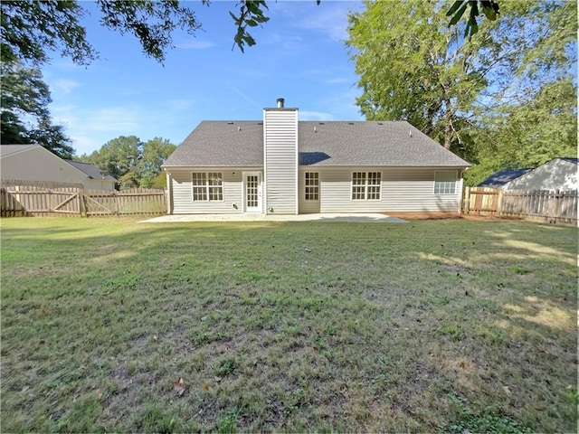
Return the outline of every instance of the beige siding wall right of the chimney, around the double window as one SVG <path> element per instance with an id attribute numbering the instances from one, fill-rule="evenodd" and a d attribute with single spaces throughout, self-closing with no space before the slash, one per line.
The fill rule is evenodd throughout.
<path id="1" fill-rule="evenodd" d="M 437 170 L 454 169 L 359 166 L 320 168 L 319 212 L 459 211 L 461 182 L 457 181 L 454 194 L 434 194 L 434 172 Z M 458 173 L 459 169 L 456 170 Z M 381 172 L 380 200 L 351 199 L 353 172 Z M 300 210 L 304 203 L 300 198 Z"/>

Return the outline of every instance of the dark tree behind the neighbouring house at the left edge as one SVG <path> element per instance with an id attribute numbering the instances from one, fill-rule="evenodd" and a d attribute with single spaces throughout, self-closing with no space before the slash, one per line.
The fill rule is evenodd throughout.
<path id="1" fill-rule="evenodd" d="M 0 141 L 4 144 L 38 143 L 57 156 L 71 158 L 74 149 L 63 127 L 52 125 L 48 105 L 51 93 L 43 74 L 19 62 L 0 63 L 2 80 Z"/>

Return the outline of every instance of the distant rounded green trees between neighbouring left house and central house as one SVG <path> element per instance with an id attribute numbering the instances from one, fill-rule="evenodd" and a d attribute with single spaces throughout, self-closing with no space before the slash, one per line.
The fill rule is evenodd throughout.
<path id="1" fill-rule="evenodd" d="M 117 178 L 121 188 L 157 187 L 164 184 L 159 179 L 161 165 L 175 148 L 161 137 L 143 143 L 136 136 L 120 136 L 80 159 Z"/>

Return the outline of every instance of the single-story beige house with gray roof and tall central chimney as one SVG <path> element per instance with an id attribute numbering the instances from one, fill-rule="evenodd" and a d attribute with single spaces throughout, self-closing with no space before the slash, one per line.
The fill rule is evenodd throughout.
<path id="1" fill-rule="evenodd" d="M 470 164 L 407 122 L 203 121 L 163 165 L 169 213 L 458 212 Z"/>

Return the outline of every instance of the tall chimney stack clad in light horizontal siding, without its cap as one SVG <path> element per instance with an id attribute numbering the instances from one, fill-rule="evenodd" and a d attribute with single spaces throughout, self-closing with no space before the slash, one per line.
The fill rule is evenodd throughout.
<path id="1" fill-rule="evenodd" d="M 297 213 L 298 112 L 266 109 L 263 113 L 265 209 Z"/>

